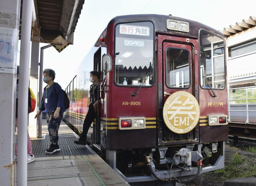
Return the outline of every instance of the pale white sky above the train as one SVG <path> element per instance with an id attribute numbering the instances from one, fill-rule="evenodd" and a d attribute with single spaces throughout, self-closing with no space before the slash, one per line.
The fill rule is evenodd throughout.
<path id="1" fill-rule="evenodd" d="M 216 30 L 223 30 L 224 27 L 228 28 L 229 25 L 248 19 L 249 16 L 255 17 L 255 5 L 256 1 L 249 0 L 85 0 L 76 25 L 73 45 L 69 45 L 61 53 L 53 47 L 45 49 L 43 68 L 55 70 L 55 82 L 65 89 L 75 69 L 95 44 L 109 21 L 116 16 L 172 14 L 198 21 Z M 47 44 L 40 43 L 40 47 L 45 45 Z"/>

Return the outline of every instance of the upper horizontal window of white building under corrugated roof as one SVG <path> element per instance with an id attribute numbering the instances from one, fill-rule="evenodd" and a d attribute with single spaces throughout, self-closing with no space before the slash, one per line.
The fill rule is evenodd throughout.
<path id="1" fill-rule="evenodd" d="M 240 56 L 246 53 L 255 52 L 256 51 L 256 40 L 249 41 L 238 46 L 234 46 L 230 48 L 230 57 Z"/>

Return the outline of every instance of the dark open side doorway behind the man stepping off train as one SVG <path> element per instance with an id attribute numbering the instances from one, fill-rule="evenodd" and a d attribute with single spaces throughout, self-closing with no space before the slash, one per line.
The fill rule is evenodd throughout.
<path id="1" fill-rule="evenodd" d="M 94 65 L 93 70 L 96 70 L 99 72 L 101 77 L 101 47 L 98 48 L 98 50 L 94 53 L 93 57 Z M 99 92 L 98 92 L 99 94 Z M 99 99 L 99 97 L 98 97 Z M 97 116 L 95 118 L 95 124 L 93 125 L 93 144 L 99 145 L 100 144 L 100 109 L 97 111 Z"/>

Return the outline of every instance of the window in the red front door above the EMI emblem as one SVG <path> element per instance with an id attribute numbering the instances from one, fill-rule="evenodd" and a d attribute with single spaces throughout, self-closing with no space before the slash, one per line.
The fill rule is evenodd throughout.
<path id="1" fill-rule="evenodd" d="M 166 50 L 166 86 L 168 88 L 190 87 L 190 54 L 185 49 Z"/>

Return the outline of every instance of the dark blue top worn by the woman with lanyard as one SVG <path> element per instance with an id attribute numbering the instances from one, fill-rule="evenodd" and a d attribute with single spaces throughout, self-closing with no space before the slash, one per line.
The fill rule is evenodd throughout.
<path id="1" fill-rule="evenodd" d="M 47 103 L 45 103 L 46 93 Z M 50 112 L 56 110 L 57 107 L 61 107 L 59 112 L 66 111 L 61 86 L 58 83 L 53 83 L 49 88 L 44 89 L 43 99 L 39 110 L 46 110 L 46 112 Z"/>

